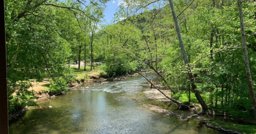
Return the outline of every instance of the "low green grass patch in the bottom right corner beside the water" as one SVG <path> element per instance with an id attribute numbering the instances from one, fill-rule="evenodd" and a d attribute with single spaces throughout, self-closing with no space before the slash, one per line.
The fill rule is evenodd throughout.
<path id="1" fill-rule="evenodd" d="M 256 125 L 245 125 L 245 124 L 237 124 L 237 123 L 230 123 L 230 122 L 225 124 L 220 124 L 218 120 L 213 120 L 213 121 L 207 120 L 207 121 L 212 125 L 217 125 L 225 129 L 241 131 L 241 132 L 245 132 L 246 134 L 256 134 Z"/>

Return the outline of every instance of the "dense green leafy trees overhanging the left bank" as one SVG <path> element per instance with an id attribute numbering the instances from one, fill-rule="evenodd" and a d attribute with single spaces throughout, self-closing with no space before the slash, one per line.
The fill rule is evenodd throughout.
<path id="1" fill-rule="evenodd" d="M 51 91 L 66 91 L 67 83 L 75 80 L 65 64 L 75 60 L 77 44 L 87 41 L 88 30 L 81 29 L 87 27 L 85 18 L 102 15 L 106 3 L 91 2 L 5 1 L 9 112 L 35 105 L 28 79 L 51 78 Z"/>

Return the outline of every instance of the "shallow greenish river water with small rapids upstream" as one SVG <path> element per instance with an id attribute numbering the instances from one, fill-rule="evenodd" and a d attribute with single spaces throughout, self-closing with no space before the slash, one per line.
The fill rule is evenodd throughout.
<path id="1" fill-rule="evenodd" d="M 141 107 L 132 97 L 146 80 L 90 83 L 39 102 L 9 125 L 10 133 L 220 133 L 196 120 L 181 121 Z M 85 88 L 89 87 L 89 88 Z M 52 108 L 49 108 L 49 105 Z M 173 106 L 175 107 L 175 105 Z"/>

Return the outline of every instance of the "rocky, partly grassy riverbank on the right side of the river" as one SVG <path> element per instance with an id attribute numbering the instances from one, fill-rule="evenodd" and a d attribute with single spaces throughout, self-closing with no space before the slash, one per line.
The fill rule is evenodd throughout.
<path id="1" fill-rule="evenodd" d="M 239 133 L 239 134 L 255 134 L 256 133 L 256 126 L 251 124 L 239 124 L 234 121 L 234 119 L 225 119 L 224 116 L 217 117 L 214 115 L 201 115 L 201 106 L 199 104 L 193 104 L 195 107 L 190 108 L 185 113 L 177 113 L 171 110 L 167 110 L 166 107 L 163 106 L 163 103 L 166 105 L 175 105 L 172 103 L 168 98 L 166 98 L 163 94 L 161 94 L 156 88 L 150 88 L 150 85 L 147 83 L 142 85 L 146 87 L 146 90 L 143 91 L 145 97 L 153 103 L 148 103 L 149 101 L 143 101 L 142 97 L 136 97 L 138 102 L 141 103 L 142 107 L 149 108 L 149 110 L 154 111 L 156 113 L 164 114 L 167 116 L 175 116 L 180 120 L 187 120 L 189 121 L 191 118 L 194 120 L 198 120 L 200 123 L 206 125 L 207 128 L 211 128 L 214 130 L 218 130 L 225 133 Z M 163 87 L 162 84 L 157 85 L 164 94 L 170 95 L 171 91 L 167 90 Z M 178 108 L 178 106 L 177 106 Z M 225 119 L 225 121 L 222 121 Z"/>

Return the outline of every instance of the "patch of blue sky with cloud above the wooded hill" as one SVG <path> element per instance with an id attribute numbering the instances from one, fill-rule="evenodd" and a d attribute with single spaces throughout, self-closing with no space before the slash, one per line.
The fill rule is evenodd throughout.
<path id="1" fill-rule="evenodd" d="M 111 0 L 109 2 L 107 2 L 107 8 L 104 12 L 104 19 L 105 22 L 102 22 L 102 24 L 108 24 L 108 23 L 113 23 L 111 22 L 114 18 L 114 14 L 116 13 L 116 9 L 118 7 L 119 4 L 121 4 L 123 1 L 122 0 Z"/>

